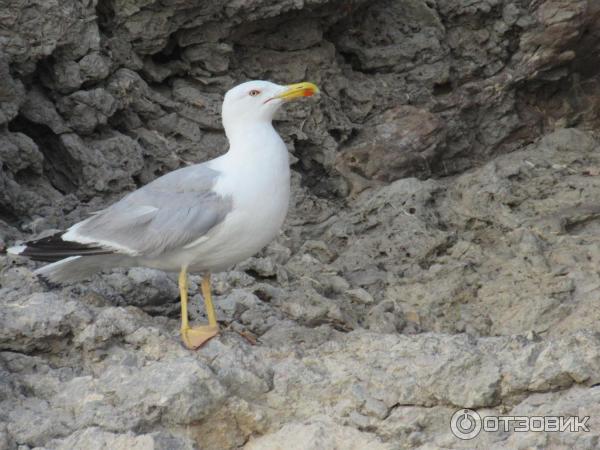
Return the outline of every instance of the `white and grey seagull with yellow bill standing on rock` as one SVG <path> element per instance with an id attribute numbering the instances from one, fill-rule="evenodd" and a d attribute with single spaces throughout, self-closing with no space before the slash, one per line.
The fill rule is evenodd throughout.
<path id="1" fill-rule="evenodd" d="M 234 87 L 222 106 L 225 154 L 167 173 L 64 232 L 7 252 L 51 263 L 34 273 L 54 283 L 113 267 L 179 272 L 181 337 L 186 347 L 200 347 L 219 332 L 210 274 L 265 247 L 287 214 L 288 152 L 273 116 L 283 103 L 318 92 L 309 82 L 248 81 Z M 208 325 L 189 324 L 189 272 L 203 275 Z"/>

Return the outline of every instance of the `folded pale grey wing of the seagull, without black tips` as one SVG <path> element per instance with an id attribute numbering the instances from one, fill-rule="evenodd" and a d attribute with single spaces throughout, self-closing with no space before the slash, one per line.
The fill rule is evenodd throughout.
<path id="1" fill-rule="evenodd" d="M 200 239 L 231 211 L 204 164 L 164 175 L 71 227 L 63 240 L 156 257 Z"/>

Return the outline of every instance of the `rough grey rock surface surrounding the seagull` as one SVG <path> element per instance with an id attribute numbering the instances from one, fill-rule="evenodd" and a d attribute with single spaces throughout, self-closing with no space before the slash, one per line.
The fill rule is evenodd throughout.
<path id="1" fill-rule="evenodd" d="M 0 450 L 598 447 L 597 2 L 0 10 L 0 248 L 223 152 L 240 81 L 323 90 L 277 121 L 288 221 L 215 277 L 199 351 L 173 275 L 46 286 L 0 256 Z M 459 408 L 591 431 L 462 441 Z"/>

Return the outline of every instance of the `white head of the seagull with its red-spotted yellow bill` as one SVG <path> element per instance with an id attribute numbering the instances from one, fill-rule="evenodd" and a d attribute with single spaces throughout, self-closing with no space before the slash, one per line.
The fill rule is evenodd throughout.
<path id="1" fill-rule="evenodd" d="M 223 100 L 225 130 L 241 124 L 271 123 L 275 112 L 286 101 L 319 93 L 313 83 L 281 86 L 270 81 L 247 81 L 230 89 Z"/>

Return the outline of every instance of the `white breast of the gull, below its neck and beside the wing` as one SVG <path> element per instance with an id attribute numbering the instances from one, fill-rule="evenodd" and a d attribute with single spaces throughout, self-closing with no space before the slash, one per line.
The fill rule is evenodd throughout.
<path id="1" fill-rule="evenodd" d="M 287 148 L 269 127 L 255 145 L 232 149 L 211 166 L 221 173 L 213 190 L 231 196 L 232 211 L 193 249 L 192 271 L 220 271 L 256 254 L 279 233 L 290 198 Z"/>

